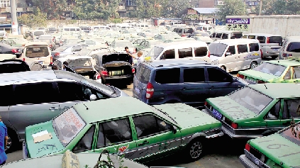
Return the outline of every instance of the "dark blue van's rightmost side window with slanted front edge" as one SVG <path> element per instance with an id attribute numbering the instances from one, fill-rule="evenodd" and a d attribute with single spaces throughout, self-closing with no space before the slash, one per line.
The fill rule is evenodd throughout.
<path id="1" fill-rule="evenodd" d="M 207 68 L 209 72 L 209 82 L 231 82 L 232 77 L 223 72 L 222 69 Z"/>

